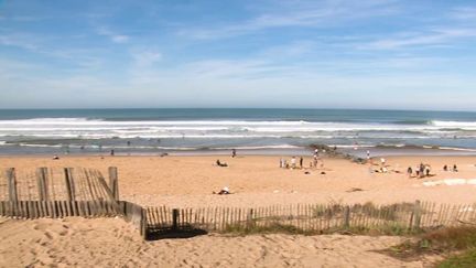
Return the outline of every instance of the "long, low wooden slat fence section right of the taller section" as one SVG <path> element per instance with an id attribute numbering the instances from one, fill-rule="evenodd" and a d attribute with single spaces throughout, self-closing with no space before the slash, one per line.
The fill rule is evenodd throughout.
<path id="1" fill-rule="evenodd" d="M 198 228 L 224 232 L 237 228 L 292 226 L 303 232 L 325 233 L 349 228 L 432 228 L 476 223 L 476 205 L 429 202 L 392 205 L 296 204 L 267 207 L 169 208 L 145 207 L 145 228 Z"/>

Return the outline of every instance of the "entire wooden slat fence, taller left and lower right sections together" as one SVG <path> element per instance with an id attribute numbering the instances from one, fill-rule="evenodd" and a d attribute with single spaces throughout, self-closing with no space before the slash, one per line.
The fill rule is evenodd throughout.
<path id="1" fill-rule="evenodd" d="M 244 228 L 292 227 L 326 233 L 351 228 L 420 229 L 476 224 L 476 204 L 448 205 L 430 202 L 392 205 L 294 204 L 266 207 L 142 207 L 119 201 L 117 169 L 109 180 L 96 170 L 46 169 L 22 173 L 0 172 L 0 216 L 108 217 L 121 216 L 142 236 L 154 232 L 202 229 L 226 232 Z"/>

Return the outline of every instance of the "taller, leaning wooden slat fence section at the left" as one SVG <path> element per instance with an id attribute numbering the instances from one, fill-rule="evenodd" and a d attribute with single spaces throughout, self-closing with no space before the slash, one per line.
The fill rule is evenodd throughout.
<path id="1" fill-rule="evenodd" d="M 7 169 L 0 172 L 0 216 L 61 218 L 121 216 L 145 234 L 144 210 L 119 201 L 117 168 L 102 174 L 84 168 Z"/>

